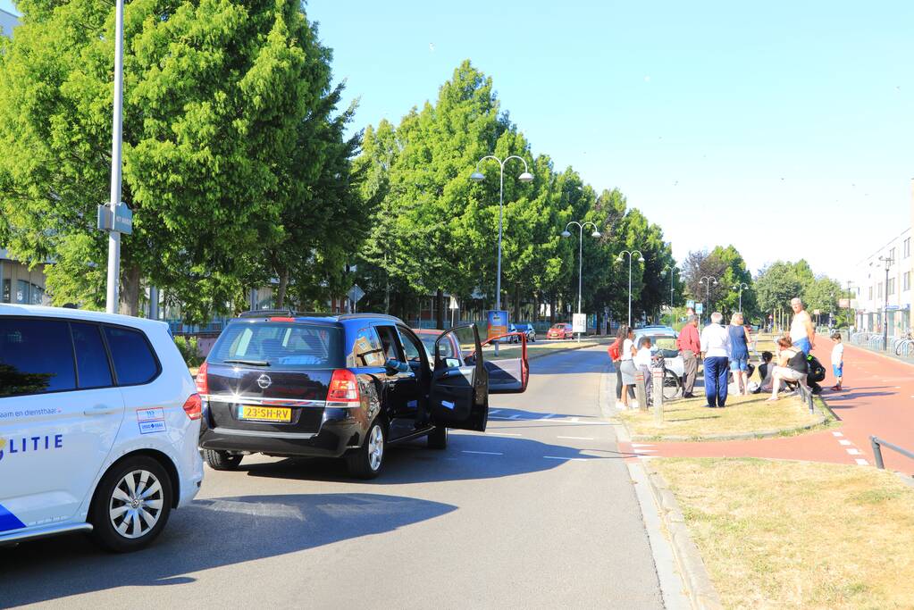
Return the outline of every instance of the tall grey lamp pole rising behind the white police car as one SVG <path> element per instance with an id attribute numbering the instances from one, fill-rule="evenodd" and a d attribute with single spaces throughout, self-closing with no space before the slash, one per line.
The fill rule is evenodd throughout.
<path id="1" fill-rule="evenodd" d="M 121 142 L 123 125 L 123 0 L 114 8 L 114 119 L 112 125 L 111 215 L 121 203 Z M 108 233 L 108 289 L 105 310 L 117 313 L 121 280 L 121 233 Z"/>

